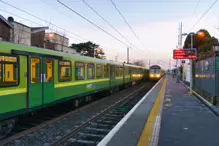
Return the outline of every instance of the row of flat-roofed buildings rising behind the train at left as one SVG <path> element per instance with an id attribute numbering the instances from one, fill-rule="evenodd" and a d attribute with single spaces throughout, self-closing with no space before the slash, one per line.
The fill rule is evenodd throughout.
<path id="1" fill-rule="evenodd" d="M 6 20 L 0 15 L 0 40 L 10 41 L 27 46 L 36 46 L 60 52 L 79 54 L 68 47 L 69 39 L 57 33 L 46 33 L 49 27 L 29 27 L 13 17 Z"/>

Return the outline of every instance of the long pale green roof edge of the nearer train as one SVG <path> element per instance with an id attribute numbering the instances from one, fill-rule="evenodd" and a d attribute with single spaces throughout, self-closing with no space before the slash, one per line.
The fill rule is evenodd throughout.
<path id="1" fill-rule="evenodd" d="M 11 49 L 8 49 L 8 48 L 11 48 Z M 16 43 L 4 42 L 4 41 L 0 41 L 0 49 L 1 51 L 4 51 L 6 53 L 11 53 L 11 50 L 17 50 L 17 51 L 24 51 L 28 53 L 38 53 L 38 54 L 52 55 L 52 56 L 58 56 L 58 57 L 74 58 L 78 60 L 108 63 L 108 64 L 113 64 L 113 65 L 123 65 L 123 63 L 119 63 L 119 62 L 112 62 L 109 60 L 98 59 L 98 58 L 93 58 L 89 56 L 82 56 L 79 54 L 69 54 L 69 53 L 58 52 L 54 50 L 49 50 L 49 49 L 44 49 L 44 48 L 39 48 L 39 47 L 34 47 L 34 46 L 26 46 L 22 44 L 16 44 Z M 136 65 L 126 64 L 126 63 L 125 65 L 130 66 L 130 67 L 144 68 L 141 66 L 136 66 Z"/>

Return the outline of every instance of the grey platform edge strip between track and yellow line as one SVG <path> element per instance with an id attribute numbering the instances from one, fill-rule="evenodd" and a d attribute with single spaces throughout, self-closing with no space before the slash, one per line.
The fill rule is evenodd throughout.
<path id="1" fill-rule="evenodd" d="M 131 114 L 119 130 L 112 136 L 107 143 L 101 143 L 98 146 L 136 146 L 138 145 L 139 138 L 147 122 L 150 111 L 155 103 L 157 95 L 163 84 L 163 79 L 157 83 L 157 86 L 151 90 L 147 98 L 142 100 L 141 104 Z M 109 136 L 110 133 L 107 135 Z M 106 137 L 107 137 L 106 136 Z M 104 140 L 107 138 L 105 137 Z M 103 141 L 104 141 L 103 140 Z"/>

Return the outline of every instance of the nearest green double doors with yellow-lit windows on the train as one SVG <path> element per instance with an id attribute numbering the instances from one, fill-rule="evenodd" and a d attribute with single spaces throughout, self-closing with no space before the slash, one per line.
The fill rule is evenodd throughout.
<path id="1" fill-rule="evenodd" d="M 54 95 L 54 60 L 38 56 L 28 60 L 28 107 L 43 106 Z"/>

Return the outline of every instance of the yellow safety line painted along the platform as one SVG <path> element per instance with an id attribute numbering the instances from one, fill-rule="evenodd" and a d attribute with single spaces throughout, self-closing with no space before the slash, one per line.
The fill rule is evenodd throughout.
<path id="1" fill-rule="evenodd" d="M 160 109 L 160 103 L 162 101 L 162 95 L 165 93 L 166 88 L 166 78 L 164 79 L 163 85 L 161 87 L 160 93 L 157 96 L 156 102 L 151 110 L 147 123 L 141 134 L 140 140 L 138 141 L 138 146 L 149 146 L 150 140 L 152 139 L 153 129 Z"/>

